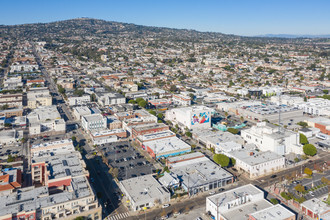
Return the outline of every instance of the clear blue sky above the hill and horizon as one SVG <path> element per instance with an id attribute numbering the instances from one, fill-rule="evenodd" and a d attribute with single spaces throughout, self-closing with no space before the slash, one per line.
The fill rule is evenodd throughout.
<path id="1" fill-rule="evenodd" d="M 330 0 L 3 0 L 0 24 L 78 17 L 226 34 L 330 34 Z"/>

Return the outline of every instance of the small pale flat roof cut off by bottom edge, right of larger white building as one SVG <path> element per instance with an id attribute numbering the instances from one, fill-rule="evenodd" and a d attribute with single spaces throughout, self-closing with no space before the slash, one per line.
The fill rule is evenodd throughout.
<path id="1" fill-rule="evenodd" d="M 295 216 L 293 212 L 277 204 L 251 214 L 255 220 L 284 220 Z"/>

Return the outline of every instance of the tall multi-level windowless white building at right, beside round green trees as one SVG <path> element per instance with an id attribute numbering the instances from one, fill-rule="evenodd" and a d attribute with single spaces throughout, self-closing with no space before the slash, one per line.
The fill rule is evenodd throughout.
<path id="1" fill-rule="evenodd" d="M 279 132 L 278 126 L 266 122 L 242 130 L 241 136 L 247 143 L 255 144 L 262 151 L 272 151 L 279 155 L 303 153 L 298 133 L 284 128 Z"/>

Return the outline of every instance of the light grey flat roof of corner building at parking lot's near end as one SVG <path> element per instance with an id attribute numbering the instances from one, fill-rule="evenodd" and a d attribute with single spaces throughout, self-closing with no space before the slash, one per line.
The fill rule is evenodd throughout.
<path id="1" fill-rule="evenodd" d="M 151 200 L 160 195 L 169 194 L 168 190 L 152 174 L 123 180 L 120 184 L 134 202 Z"/>

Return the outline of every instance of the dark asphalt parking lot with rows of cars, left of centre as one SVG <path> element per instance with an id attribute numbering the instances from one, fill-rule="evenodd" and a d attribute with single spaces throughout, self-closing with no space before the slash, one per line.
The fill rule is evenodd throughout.
<path id="1" fill-rule="evenodd" d="M 98 148 L 108 159 L 108 163 L 118 169 L 119 181 L 156 172 L 156 168 L 129 142 L 103 144 Z"/>

